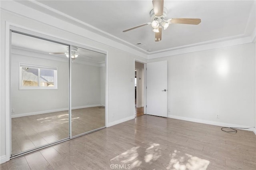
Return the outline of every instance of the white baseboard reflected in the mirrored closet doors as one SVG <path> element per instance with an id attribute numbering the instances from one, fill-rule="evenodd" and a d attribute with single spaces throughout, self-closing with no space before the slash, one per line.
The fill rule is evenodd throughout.
<path id="1" fill-rule="evenodd" d="M 83 109 L 83 108 L 87 108 L 87 107 L 98 107 L 98 106 L 101 106 L 101 105 L 97 104 L 97 105 L 77 106 L 77 107 L 72 107 L 72 109 Z M 39 111 L 39 112 L 30 112 L 30 113 L 20 113 L 20 114 L 12 115 L 12 118 L 31 116 L 31 115 L 40 115 L 40 114 L 52 113 L 52 112 L 60 112 L 60 111 L 68 111 L 68 108 L 53 109 L 53 110 Z"/>

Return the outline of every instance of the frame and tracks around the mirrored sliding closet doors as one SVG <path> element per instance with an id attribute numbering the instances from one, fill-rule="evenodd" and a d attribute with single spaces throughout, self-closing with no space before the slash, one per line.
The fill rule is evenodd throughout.
<path id="1" fill-rule="evenodd" d="M 89 50 L 92 50 L 92 51 L 96 51 L 96 52 L 99 52 L 99 53 L 103 53 L 105 54 L 105 126 L 104 127 L 101 127 L 101 128 L 97 128 L 97 129 L 94 129 L 94 130 L 91 130 L 89 132 L 85 132 L 85 133 L 82 133 L 82 134 L 79 134 L 79 135 L 76 135 L 76 136 L 72 136 L 72 121 L 71 121 L 71 116 L 72 116 L 72 106 L 71 106 L 71 63 L 72 63 L 72 59 L 71 57 L 69 57 L 69 87 L 68 87 L 68 103 L 69 103 L 69 106 L 68 106 L 68 112 L 69 112 L 69 137 L 68 138 L 64 138 L 62 140 L 58 140 L 56 142 L 52 142 L 50 144 L 46 144 L 46 145 L 42 145 L 42 146 L 39 146 L 39 147 L 36 147 L 34 149 L 31 149 L 31 150 L 27 150 L 27 151 L 24 151 L 24 152 L 20 152 L 18 154 L 14 154 L 14 155 L 11 155 L 12 154 L 12 119 L 11 119 L 11 91 L 10 91 L 10 85 L 11 85 L 11 70 L 10 70 L 10 66 L 11 66 L 11 62 L 10 62 L 10 59 L 11 59 L 11 35 L 12 35 L 12 32 L 16 32 L 16 33 L 19 33 L 19 34 L 23 34 L 23 35 L 27 35 L 27 36 L 32 36 L 34 38 L 40 38 L 42 40 L 47 40 L 47 41 L 50 41 L 50 42 L 55 42 L 55 43 L 60 43 L 60 44 L 63 44 L 63 45 L 68 45 L 69 47 L 69 56 L 71 56 L 71 50 L 70 50 L 70 47 L 71 46 L 76 46 L 76 47 L 81 47 L 81 48 L 84 48 L 84 49 L 89 49 Z M 5 95 L 5 111 L 6 111 L 6 114 L 5 114 L 5 121 L 6 121 L 6 124 L 5 124 L 5 144 L 6 144 L 6 161 L 12 159 L 12 158 L 16 158 L 18 156 L 22 156 L 24 154 L 28 154 L 30 152 L 34 152 L 36 150 L 40 150 L 42 148 L 46 148 L 46 147 L 49 147 L 49 146 L 52 146 L 52 145 L 55 145 L 55 144 L 58 144 L 58 143 L 61 143 L 61 142 L 64 142 L 66 140 L 70 140 L 70 139 L 73 139 L 73 138 L 76 138 L 76 137 L 79 137 L 79 136 L 82 136 L 84 134 L 88 134 L 90 132 L 93 132 L 93 131 L 96 131 L 96 130 L 100 130 L 102 128 L 105 128 L 105 127 L 108 127 L 108 51 L 104 51 L 104 50 L 101 50 L 101 49 L 97 49 L 97 48 L 94 48 L 94 47 L 89 47 L 87 45 L 81 45 L 81 44 L 77 44 L 77 43 L 74 43 L 74 42 L 69 42 L 67 40 L 63 40 L 63 39 L 60 39 L 60 38 L 55 38 L 53 36 L 50 36 L 46 33 L 39 33 L 39 32 L 36 32 L 35 30 L 31 30 L 30 28 L 25 28 L 24 26 L 20 26 L 20 25 L 17 25 L 17 24 L 13 24 L 13 23 L 9 23 L 9 22 L 6 22 L 6 32 L 5 32 L 5 36 L 6 36 L 6 39 L 5 39 L 5 87 L 6 87 L 6 95 Z"/>

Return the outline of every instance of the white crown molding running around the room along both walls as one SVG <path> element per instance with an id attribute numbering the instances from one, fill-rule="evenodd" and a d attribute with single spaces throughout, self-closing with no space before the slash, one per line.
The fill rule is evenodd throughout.
<path id="1" fill-rule="evenodd" d="M 154 52 L 148 52 L 144 49 L 139 48 L 138 46 L 136 46 L 132 43 L 126 42 L 116 36 L 113 36 L 112 34 L 104 32 L 98 28 L 95 28 L 94 26 L 91 26 L 90 24 L 87 24 L 87 23 L 82 22 L 76 18 L 73 18 L 67 14 L 64 14 L 58 10 L 50 8 L 49 6 L 46 6 L 40 2 L 37 2 L 37 1 L 30 1 L 30 2 L 33 4 L 36 4 L 41 9 L 43 8 L 44 12 L 48 11 L 48 12 L 50 12 L 49 14 L 56 14 L 58 17 L 56 17 L 56 16 L 54 16 L 54 17 L 56 17 L 59 20 L 62 20 L 63 22 L 69 22 L 70 24 L 74 24 L 80 28 L 83 27 L 83 28 L 85 28 L 84 30 L 94 33 L 93 35 L 97 34 L 97 36 L 95 36 L 95 38 L 90 38 L 90 37 L 84 36 L 85 38 L 90 39 L 94 42 L 102 43 L 104 45 L 111 44 L 108 46 L 116 48 L 116 49 L 120 49 L 127 53 L 134 54 L 134 55 L 138 56 L 139 58 L 143 58 L 143 59 L 154 59 L 154 58 L 159 58 L 159 57 L 167 57 L 167 56 L 179 55 L 179 54 L 184 54 L 184 53 L 192 53 L 192 52 L 196 52 L 196 51 L 204 51 L 204 50 L 210 50 L 210 49 L 230 47 L 230 46 L 234 46 L 234 45 L 241 45 L 241 44 L 245 44 L 245 43 L 252 43 L 255 41 L 255 35 L 256 35 L 255 34 L 255 26 L 254 26 L 253 32 L 251 32 L 252 27 L 250 27 L 250 24 L 251 24 L 253 18 L 255 18 L 255 6 L 252 6 L 243 34 L 226 37 L 226 38 L 221 38 L 221 39 L 216 39 L 216 40 L 210 40 L 210 41 L 206 41 L 206 42 L 200 42 L 200 43 L 194 43 L 194 44 L 189 44 L 189 45 L 184 45 L 184 46 L 173 47 L 173 48 L 154 51 Z M 15 3 L 17 5 L 18 2 L 15 2 Z M 22 3 L 18 3 L 18 4 L 23 5 L 26 8 L 30 8 Z M 255 2 L 254 2 L 254 4 L 255 4 Z M 17 9 L 17 8 L 15 8 L 15 9 Z M 30 8 L 30 10 L 31 9 L 32 8 Z M 1 10 L 2 10 L 2 7 L 1 7 Z M 33 9 L 33 10 L 35 10 L 35 9 Z M 52 27 L 56 28 L 56 26 L 51 25 L 49 22 L 47 22 L 46 21 L 47 19 L 41 19 L 39 21 L 38 18 L 34 18 L 34 16 L 28 15 L 28 12 L 19 11 L 17 14 L 14 10 L 11 10 L 8 8 L 6 8 L 5 11 L 15 14 L 15 15 L 18 15 L 18 16 L 21 16 L 23 18 L 36 20 L 37 22 L 40 22 L 44 25 L 52 26 Z M 22 11 L 24 11 L 24 10 L 22 10 Z M 38 12 L 41 12 L 41 11 L 38 11 Z M 43 13 L 43 12 L 41 12 L 41 13 Z M 49 16 L 49 14 L 46 14 L 46 13 L 43 13 L 43 14 Z M 57 27 L 57 28 L 60 28 L 60 27 Z M 62 29 L 62 28 L 60 28 L 60 29 Z M 67 29 L 63 29 L 63 30 L 70 32 Z M 74 32 L 72 32 L 72 33 L 76 34 Z"/>

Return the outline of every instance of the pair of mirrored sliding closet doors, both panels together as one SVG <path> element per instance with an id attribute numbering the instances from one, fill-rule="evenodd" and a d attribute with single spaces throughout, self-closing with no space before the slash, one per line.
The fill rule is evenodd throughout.
<path id="1" fill-rule="evenodd" d="M 11 32 L 11 157 L 105 127 L 105 58 Z"/>

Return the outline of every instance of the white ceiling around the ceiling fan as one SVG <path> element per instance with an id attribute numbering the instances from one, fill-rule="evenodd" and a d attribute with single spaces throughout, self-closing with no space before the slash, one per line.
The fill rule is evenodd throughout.
<path id="1" fill-rule="evenodd" d="M 146 54 L 232 40 L 255 30 L 255 0 L 165 0 L 166 18 L 201 18 L 199 25 L 170 24 L 162 41 L 154 41 L 150 25 L 151 0 L 39 0 L 18 1 L 56 18 L 124 43 Z M 145 44 L 135 47 L 136 43 Z M 152 52 L 146 50 L 152 49 Z"/>

